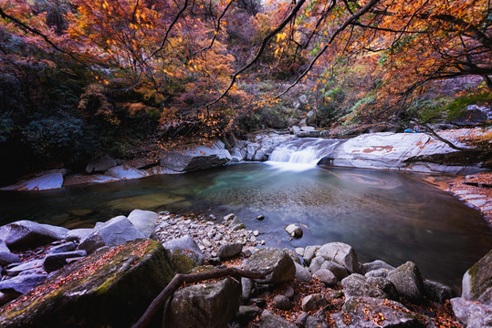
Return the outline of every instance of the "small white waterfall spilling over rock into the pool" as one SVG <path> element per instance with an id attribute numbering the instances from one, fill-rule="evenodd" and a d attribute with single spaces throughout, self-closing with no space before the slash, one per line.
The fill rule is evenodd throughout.
<path id="1" fill-rule="evenodd" d="M 274 149 L 267 163 L 281 169 L 311 169 L 319 160 L 330 158 L 340 142 L 338 139 L 293 138 Z"/>

